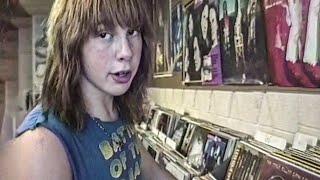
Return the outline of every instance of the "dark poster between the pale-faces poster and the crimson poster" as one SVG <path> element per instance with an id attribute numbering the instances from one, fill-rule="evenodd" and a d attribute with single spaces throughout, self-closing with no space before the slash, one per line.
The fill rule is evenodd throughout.
<path id="1" fill-rule="evenodd" d="M 268 82 L 265 28 L 260 0 L 220 0 L 224 84 Z"/>

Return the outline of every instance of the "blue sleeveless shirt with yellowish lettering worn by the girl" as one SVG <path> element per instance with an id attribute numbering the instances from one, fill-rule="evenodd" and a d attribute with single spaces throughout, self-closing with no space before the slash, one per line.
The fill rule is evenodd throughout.
<path id="1" fill-rule="evenodd" d="M 88 116 L 85 128 L 76 132 L 53 113 L 44 113 L 38 105 L 18 128 L 17 137 L 39 126 L 59 138 L 74 180 L 141 179 L 141 156 L 136 137 L 125 121 L 102 122 Z"/>

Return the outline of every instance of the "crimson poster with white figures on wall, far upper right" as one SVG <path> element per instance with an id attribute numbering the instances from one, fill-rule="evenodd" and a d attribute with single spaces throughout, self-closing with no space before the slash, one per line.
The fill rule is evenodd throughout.
<path id="1" fill-rule="evenodd" d="M 319 6 L 313 0 L 264 0 L 269 64 L 276 85 L 320 85 L 320 25 L 314 23 L 319 20 Z"/>

